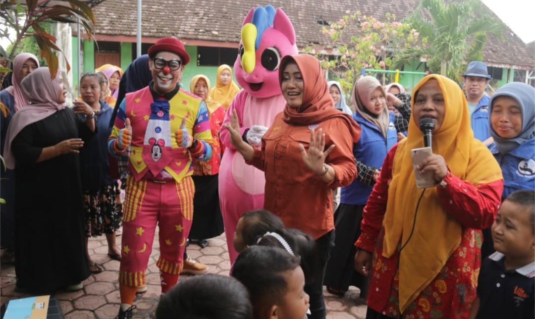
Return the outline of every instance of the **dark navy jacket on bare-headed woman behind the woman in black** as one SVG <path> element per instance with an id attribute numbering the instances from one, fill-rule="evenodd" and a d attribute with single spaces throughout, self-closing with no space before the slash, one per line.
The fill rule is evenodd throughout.
<path id="1" fill-rule="evenodd" d="M 100 103 L 101 111 L 95 117 L 97 133 L 80 149 L 80 176 L 84 191 L 96 191 L 116 182 L 110 179 L 108 158 L 109 123 L 113 109 L 106 102 Z M 84 118 L 83 115 L 80 117 Z"/>

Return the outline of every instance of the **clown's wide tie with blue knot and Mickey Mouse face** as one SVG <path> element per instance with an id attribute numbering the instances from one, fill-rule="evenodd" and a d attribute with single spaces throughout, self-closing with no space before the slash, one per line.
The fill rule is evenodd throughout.
<path id="1" fill-rule="evenodd" d="M 143 161 L 155 176 L 173 160 L 169 101 L 156 100 L 150 104 L 151 113 L 143 140 Z"/>

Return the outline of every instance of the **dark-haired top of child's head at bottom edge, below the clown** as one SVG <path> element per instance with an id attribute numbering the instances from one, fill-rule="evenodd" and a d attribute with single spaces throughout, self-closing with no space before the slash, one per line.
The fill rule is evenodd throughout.
<path id="1" fill-rule="evenodd" d="M 253 319 L 253 306 L 238 280 L 208 274 L 180 280 L 160 299 L 156 318 Z"/>

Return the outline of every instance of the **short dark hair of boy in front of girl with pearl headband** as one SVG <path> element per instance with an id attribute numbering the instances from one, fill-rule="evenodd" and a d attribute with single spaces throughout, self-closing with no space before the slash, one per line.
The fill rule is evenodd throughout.
<path id="1" fill-rule="evenodd" d="M 238 255 L 232 276 L 247 287 L 255 318 L 281 305 L 287 291 L 284 272 L 299 267 L 300 259 L 275 247 L 250 246 Z M 159 319 L 159 318 L 158 318 Z"/>

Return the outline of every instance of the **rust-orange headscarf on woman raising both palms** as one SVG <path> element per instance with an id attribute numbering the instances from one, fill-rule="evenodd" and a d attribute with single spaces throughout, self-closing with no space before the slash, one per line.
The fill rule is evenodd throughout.
<path id="1" fill-rule="evenodd" d="M 334 101 L 329 94 L 327 81 L 319 65 L 318 59 L 309 54 L 288 55 L 282 58 L 279 68 L 279 84 L 282 83 L 282 73 L 288 63 L 295 63 L 301 71 L 303 78 L 303 102 L 299 110 L 286 104 L 282 120 L 289 124 L 310 125 L 317 124 L 332 117 L 341 117 L 346 120 L 353 142 L 358 142 L 361 127 L 350 115 L 334 108 Z"/>

